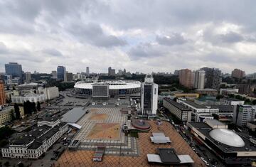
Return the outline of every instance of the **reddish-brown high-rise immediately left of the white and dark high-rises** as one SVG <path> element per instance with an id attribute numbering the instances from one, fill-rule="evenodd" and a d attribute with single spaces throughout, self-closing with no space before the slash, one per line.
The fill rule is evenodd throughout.
<path id="1" fill-rule="evenodd" d="M 178 80 L 184 87 L 192 88 L 192 72 L 188 69 L 182 69 L 178 72 Z"/>

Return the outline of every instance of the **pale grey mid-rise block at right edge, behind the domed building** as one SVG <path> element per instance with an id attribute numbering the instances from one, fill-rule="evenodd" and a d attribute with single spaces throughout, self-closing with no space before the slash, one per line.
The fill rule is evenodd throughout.
<path id="1" fill-rule="evenodd" d="M 238 104 L 233 114 L 233 123 L 238 126 L 246 126 L 247 122 L 255 119 L 255 108 L 250 105 Z"/>

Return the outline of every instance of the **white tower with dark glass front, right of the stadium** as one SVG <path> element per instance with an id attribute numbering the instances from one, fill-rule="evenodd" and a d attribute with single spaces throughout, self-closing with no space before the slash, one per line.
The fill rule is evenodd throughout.
<path id="1" fill-rule="evenodd" d="M 156 114 L 158 85 L 154 83 L 154 78 L 152 75 L 146 75 L 141 89 L 142 114 Z"/>

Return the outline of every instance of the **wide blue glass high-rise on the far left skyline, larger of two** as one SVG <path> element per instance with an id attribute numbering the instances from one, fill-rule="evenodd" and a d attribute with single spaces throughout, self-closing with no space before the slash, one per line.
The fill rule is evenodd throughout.
<path id="1" fill-rule="evenodd" d="M 19 77 L 19 82 L 22 82 L 22 67 L 18 63 L 9 63 L 5 65 L 6 75 Z"/>

